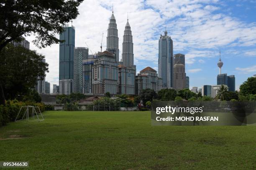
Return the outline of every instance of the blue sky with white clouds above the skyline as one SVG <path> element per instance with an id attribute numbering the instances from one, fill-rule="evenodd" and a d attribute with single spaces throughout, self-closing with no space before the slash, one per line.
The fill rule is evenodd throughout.
<path id="1" fill-rule="evenodd" d="M 120 59 L 128 13 L 137 73 L 148 66 L 158 71 L 158 40 L 166 28 L 174 54 L 185 55 L 190 89 L 217 84 L 219 51 L 222 73 L 235 75 L 236 90 L 256 74 L 256 0 L 85 0 L 73 20 L 76 47 L 100 51 L 103 32 L 102 49 L 106 49 L 112 4 Z M 52 85 L 59 84 L 59 44 L 38 49 L 34 38 L 26 37 L 31 50 L 46 56 L 46 81 L 52 92 Z"/>

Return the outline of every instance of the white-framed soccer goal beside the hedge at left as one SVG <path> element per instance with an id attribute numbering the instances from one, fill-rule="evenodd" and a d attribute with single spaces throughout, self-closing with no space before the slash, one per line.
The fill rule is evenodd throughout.
<path id="1" fill-rule="evenodd" d="M 19 116 L 21 118 L 19 118 Z M 27 121 L 34 121 L 40 122 L 44 120 L 44 116 L 42 115 L 39 107 L 35 106 L 21 106 L 20 111 L 15 119 L 15 122 L 27 120 Z"/>

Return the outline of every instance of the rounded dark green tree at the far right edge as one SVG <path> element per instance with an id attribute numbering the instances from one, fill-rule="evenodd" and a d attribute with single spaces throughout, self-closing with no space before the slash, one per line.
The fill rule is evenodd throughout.
<path id="1" fill-rule="evenodd" d="M 249 77 L 242 85 L 240 85 L 240 93 L 242 95 L 256 94 L 256 77 Z"/>

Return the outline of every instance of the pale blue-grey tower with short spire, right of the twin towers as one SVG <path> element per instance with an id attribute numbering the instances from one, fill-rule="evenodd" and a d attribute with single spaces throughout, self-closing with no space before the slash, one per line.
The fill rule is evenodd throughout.
<path id="1" fill-rule="evenodd" d="M 158 74 L 163 80 L 164 88 L 172 88 L 174 86 L 174 60 L 173 60 L 173 42 L 165 30 L 164 35 L 159 39 L 158 54 Z"/>

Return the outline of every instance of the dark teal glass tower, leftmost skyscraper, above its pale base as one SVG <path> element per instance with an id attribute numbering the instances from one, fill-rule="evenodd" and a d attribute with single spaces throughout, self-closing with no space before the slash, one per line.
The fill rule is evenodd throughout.
<path id="1" fill-rule="evenodd" d="M 59 80 L 74 79 L 74 47 L 75 28 L 73 25 L 63 26 L 59 39 Z"/>

